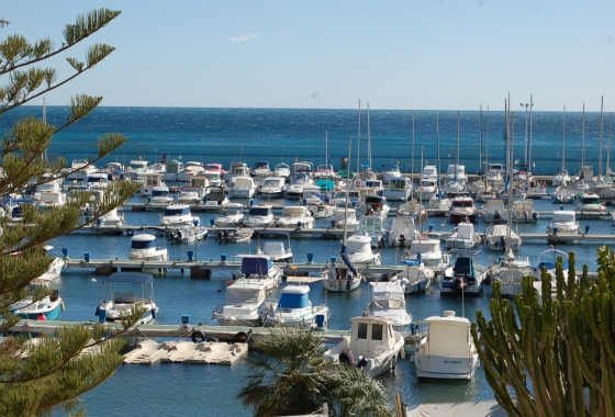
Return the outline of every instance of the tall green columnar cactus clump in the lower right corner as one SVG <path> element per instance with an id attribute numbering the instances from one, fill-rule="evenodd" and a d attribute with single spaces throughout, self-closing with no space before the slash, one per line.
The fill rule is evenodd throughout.
<path id="1" fill-rule="evenodd" d="M 541 271 L 539 300 L 525 277 L 514 303 L 493 285 L 491 319 L 481 311 L 472 324 L 487 380 L 510 416 L 615 415 L 615 252 L 597 250 L 597 279 L 566 279 L 561 257 L 551 275 Z M 577 277 L 574 252 L 568 277 Z"/>

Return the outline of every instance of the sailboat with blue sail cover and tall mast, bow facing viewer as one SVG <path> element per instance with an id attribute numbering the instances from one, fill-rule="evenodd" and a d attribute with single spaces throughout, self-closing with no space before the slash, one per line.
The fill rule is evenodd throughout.
<path id="1" fill-rule="evenodd" d="M 350 151 L 353 138 L 348 144 L 348 167 L 350 167 Z M 349 169 L 346 173 L 346 179 L 349 181 Z M 346 204 L 344 204 L 344 216 L 348 214 L 348 189 L 346 189 Z M 362 274 L 355 269 L 346 247 L 347 238 L 347 222 L 344 222 L 344 240 L 342 243 L 342 251 L 339 259 L 336 259 L 333 267 L 327 271 L 326 278 L 323 280 L 323 285 L 333 292 L 350 292 L 359 286 L 362 280 Z"/>

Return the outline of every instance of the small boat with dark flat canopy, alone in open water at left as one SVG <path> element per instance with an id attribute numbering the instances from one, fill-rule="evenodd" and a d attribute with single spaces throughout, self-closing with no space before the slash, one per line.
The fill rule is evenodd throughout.
<path id="1" fill-rule="evenodd" d="M 141 284 L 141 294 L 130 291 L 134 284 Z M 156 319 L 158 306 L 154 302 L 154 277 L 150 273 L 114 272 L 104 279 L 102 301 L 96 309 L 100 322 L 121 320 L 137 308 L 145 309 L 139 324 L 145 325 Z"/>

